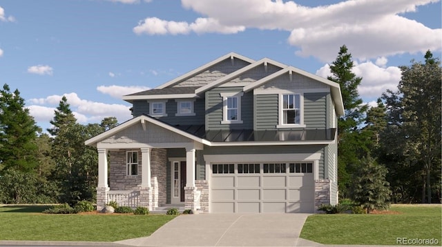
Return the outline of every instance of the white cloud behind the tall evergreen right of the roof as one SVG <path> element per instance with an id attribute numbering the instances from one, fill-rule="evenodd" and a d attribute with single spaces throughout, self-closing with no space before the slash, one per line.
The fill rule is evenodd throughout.
<path id="1" fill-rule="evenodd" d="M 381 60 L 383 61 L 382 58 Z M 355 64 L 352 72 L 357 77 L 363 78 L 358 87 L 359 95 L 362 98 L 369 99 L 381 97 L 382 93 L 387 89 L 396 89 L 402 75 L 401 69 L 398 67 L 390 66 L 385 68 L 385 63 L 381 63 L 380 67 L 372 63 L 372 61 Z M 316 75 L 324 78 L 332 75 L 329 64 L 325 64 L 325 66 L 317 70 Z"/>

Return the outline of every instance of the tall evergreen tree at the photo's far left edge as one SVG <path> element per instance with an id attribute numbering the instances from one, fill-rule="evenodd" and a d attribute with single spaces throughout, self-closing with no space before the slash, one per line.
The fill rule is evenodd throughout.
<path id="1" fill-rule="evenodd" d="M 3 170 L 32 172 L 37 167 L 37 131 L 19 90 L 0 90 L 0 164 Z"/>

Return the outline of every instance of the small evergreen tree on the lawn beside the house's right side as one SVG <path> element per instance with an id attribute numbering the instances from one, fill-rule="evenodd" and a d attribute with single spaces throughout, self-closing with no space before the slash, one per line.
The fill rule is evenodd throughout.
<path id="1" fill-rule="evenodd" d="M 387 169 L 376 164 L 372 157 L 364 157 L 354 174 L 353 197 L 367 209 L 387 209 L 390 206 L 390 184 L 385 180 Z"/>

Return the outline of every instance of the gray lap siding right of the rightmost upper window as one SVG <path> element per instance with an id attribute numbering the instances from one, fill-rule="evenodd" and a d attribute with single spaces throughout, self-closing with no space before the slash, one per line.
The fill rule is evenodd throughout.
<path id="1" fill-rule="evenodd" d="M 304 124 L 307 128 L 326 128 L 327 92 L 304 94 Z"/>

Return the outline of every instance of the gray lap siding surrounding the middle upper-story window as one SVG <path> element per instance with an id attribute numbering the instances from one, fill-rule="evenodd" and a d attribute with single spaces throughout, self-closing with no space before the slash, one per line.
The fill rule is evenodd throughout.
<path id="1" fill-rule="evenodd" d="M 206 92 L 206 129 L 252 129 L 253 128 L 253 92 L 244 93 L 241 97 L 242 124 L 221 124 L 222 97 L 221 92 L 242 92 L 242 87 L 213 88 Z"/>

